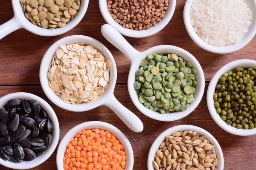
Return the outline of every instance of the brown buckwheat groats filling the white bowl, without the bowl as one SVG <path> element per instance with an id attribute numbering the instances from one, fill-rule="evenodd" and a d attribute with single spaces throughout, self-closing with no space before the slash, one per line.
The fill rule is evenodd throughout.
<path id="1" fill-rule="evenodd" d="M 107 0 L 111 17 L 124 28 L 145 30 L 160 22 L 169 0 Z"/>

